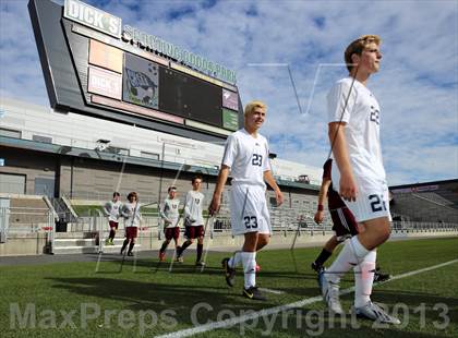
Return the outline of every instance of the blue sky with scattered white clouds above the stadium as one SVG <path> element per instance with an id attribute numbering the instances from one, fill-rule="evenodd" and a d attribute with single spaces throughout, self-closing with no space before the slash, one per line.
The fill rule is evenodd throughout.
<path id="1" fill-rule="evenodd" d="M 85 2 L 236 70 L 242 101 L 267 102 L 273 152 L 317 167 L 328 154 L 326 93 L 347 74 L 326 64 L 341 63 L 352 39 L 378 34 L 382 70 L 367 86 L 382 107 L 388 183 L 458 177 L 457 1 Z M 0 96 L 49 105 L 26 4 L 0 1 Z"/>

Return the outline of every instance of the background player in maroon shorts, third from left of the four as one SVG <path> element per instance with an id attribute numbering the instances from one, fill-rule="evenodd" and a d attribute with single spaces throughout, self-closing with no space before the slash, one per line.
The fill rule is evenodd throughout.
<path id="1" fill-rule="evenodd" d="M 164 201 L 164 206 L 160 208 L 160 218 L 164 220 L 164 233 L 166 234 L 166 240 L 162 242 L 162 246 L 159 250 L 159 261 L 164 262 L 166 259 L 166 250 L 170 241 L 173 239 L 174 249 L 179 249 L 179 237 L 180 237 L 180 200 L 177 198 L 177 188 L 169 186 L 168 189 L 169 196 Z"/>

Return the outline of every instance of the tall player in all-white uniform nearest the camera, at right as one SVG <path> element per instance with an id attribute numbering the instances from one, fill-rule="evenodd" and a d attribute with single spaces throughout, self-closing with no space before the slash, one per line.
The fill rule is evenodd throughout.
<path id="1" fill-rule="evenodd" d="M 334 155 L 333 183 L 357 221 L 365 231 L 348 240 L 339 256 L 320 276 L 329 310 L 341 314 L 339 281 L 354 267 L 354 312 L 378 323 L 399 324 L 399 319 L 372 303 L 376 248 L 390 233 L 390 214 L 385 169 L 379 142 L 381 109 L 366 87 L 371 74 L 379 69 L 381 39 L 365 35 L 345 51 L 349 77 L 330 89 L 328 101 L 329 141 Z"/>

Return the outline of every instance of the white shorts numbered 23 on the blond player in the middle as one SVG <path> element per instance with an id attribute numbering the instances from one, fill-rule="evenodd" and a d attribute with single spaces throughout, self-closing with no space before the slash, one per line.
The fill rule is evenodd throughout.
<path id="1" fill-rule="evenodd" d="M 230 193 L 232 234 L 246 232 L 272 233 L 265 189 L 234 184 Z"/>

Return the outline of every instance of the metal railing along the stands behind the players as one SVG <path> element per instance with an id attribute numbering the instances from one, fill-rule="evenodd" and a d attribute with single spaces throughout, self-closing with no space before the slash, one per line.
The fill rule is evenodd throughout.
<path id="1" fill-rule="evenodd" d="M 299 213 L 298 209 L 270 208 L 272 229 L 274 233 L 285 237 L 298 232 L 299 236 L 314 236 L 332 233 L 332 224 L 316 225 L 311 213 Z M 182 231 L 183 226 L 181 225 Z M 458 224 L 451 222 L 421 222 L 421 221 L 394 221 L 391 225 L 393 236 L 401 233 L 451 232 L 458 231 Z M 119 231 L 124 230 L 124 222 L 120 219 Z M 109 233 L 108 218 L 101 213 L 88 217 L 79 217 L 75 222 L 60 225 L 55 220 L 53 213 L 46 208 L 26 207 L 0 207 L 0 243 L 8 241 L 9 237 L 17 234 L 37 233 L 46 234 L 48 252 L 52 253 L 57 232 L 62 231 L 67 238 L 80 238 L 89 236 L 96 239 L 96 245 L 103 251 L 105 239 Z M 71 233 L 75 237 L 72 237 Z M 142 213 L 140 236 L 154 240 L 164 238 L 162 225 L 157 213 Z M 209 238 L 231 236 L 230 212 L 227 206 L 221 208 L 220 214 L 208 224 L 207 236 Z M 152 242 L 153 243 L 153 242 Z"/>

